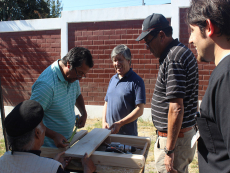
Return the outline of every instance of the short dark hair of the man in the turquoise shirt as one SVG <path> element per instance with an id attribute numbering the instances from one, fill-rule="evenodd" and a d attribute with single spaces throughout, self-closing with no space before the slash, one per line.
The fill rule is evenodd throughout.
<path id="1" fill-rule="evenodd" d="M 84 47 L 72 48 L 61 61 L 65 66 L 67 62 L 69 62 L 71 65 L 70 70 L 74 67 L 81 67 L 83 62 L 85 62 L 89 68 L 93 67 L 93 57 L 90 51 Z"/>

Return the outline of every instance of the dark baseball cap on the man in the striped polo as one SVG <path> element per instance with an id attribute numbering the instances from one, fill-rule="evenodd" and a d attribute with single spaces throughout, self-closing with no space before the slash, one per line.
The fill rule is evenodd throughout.
<path id="1" fill-rule="evenodd" d="M 162 14 L 153 13 L 144 20 L 142 24 L 142 33 L 137 37 L 136 41 L 141 41 L 151 31 L 159 31 L 168 27 L 170 27 L 169 22 Z"/>

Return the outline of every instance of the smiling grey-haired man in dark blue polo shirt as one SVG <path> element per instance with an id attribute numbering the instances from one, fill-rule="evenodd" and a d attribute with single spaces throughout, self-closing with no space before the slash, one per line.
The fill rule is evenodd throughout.
<path id="1" fill-rule="evenodd" d="M 130 68 L 127 46 L 116 46 L 111 59 L 117 74 L 111 78 L 105 96 L 102 127 L 114 134 L 137 136 L 137 118 L 143 114 L 146 101 L 144 81 Z"/>

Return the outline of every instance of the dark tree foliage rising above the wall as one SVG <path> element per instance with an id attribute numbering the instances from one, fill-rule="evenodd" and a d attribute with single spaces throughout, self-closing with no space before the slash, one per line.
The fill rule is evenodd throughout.
<path id="1" fill-rule="evenodd" d="M 60 17 L 59 0 L 0 0 L 0 21 Z"/>

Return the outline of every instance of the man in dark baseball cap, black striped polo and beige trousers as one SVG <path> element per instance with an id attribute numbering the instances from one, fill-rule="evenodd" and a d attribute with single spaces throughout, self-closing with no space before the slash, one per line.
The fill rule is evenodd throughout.
<path id="1" fill-rule="evenodd" d="M 152 120 L 158 138 L 154 146 L 158 172 L 188 172 L 195 146 L 195 114 L 198 100 L 198 66 L 193 53 L 178 39 L 172 38 L 172 27 L 161 14 L 148 16 L 143 40 L 155 58 L 159 71 L 152 97 Z"/>

